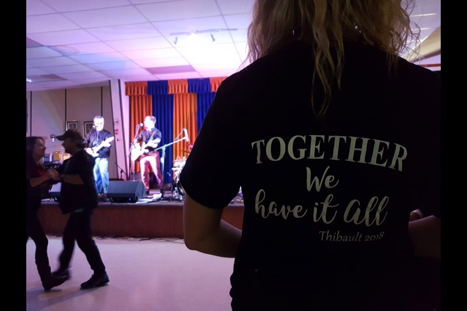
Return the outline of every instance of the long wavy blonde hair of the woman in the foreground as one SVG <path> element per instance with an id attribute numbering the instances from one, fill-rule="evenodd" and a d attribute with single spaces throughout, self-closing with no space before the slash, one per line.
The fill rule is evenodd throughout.
<path id="1" fill-rule="evenodd" d="M 315 115 L 323 117 L 333 86 L 341 86 L 344 42 L 369 45 L 388 53 L 389 68 L 408 52 L 407 41 L 418 39 L 409 12 L 412 0 L 256 0 L 248 27 L 250 62 L 294 41 L 313 47 L 313 85 L 321 81 L 324 102 Z M 330 48 L 335 52 L 331 53 Z"/>

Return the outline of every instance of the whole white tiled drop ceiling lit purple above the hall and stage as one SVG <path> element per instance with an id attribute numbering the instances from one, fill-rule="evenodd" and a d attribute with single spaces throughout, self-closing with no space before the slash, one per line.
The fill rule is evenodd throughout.
<path id="1" fill-rule="evenodd" d="M 440 2 L 418 0 L 411 14 L 419 58 L 429 56 L 416 63 L 430 69 L 441 64 Z M 247 54 L 252 3 L 26 0 L 26 90 L 231 75 Z"/>

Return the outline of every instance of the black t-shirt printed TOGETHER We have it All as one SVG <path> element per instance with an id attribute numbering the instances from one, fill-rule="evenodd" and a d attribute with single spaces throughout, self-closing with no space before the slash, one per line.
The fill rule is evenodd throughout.
<path id="1" fill-rule="evenodd" d="M 440 77 L 403 59 L 390 71 L 386 56 L 346 44 L 341 90 L 320 122 L 305 44 L 219 87 L 180 181 L 211 208 L 242 189 L 234 300 L 361 301 L 406 272 L 410 211 L 440 215 Z M 320 103 L 321 88 L 314 92 Z"/>

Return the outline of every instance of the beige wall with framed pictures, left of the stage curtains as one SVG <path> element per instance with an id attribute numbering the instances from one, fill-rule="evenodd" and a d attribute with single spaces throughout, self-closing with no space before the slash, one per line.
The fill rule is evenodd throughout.
<path id="1" fill-rule="evenodd" d="M 85 87 L 26 92 L 26 136 L 46 138 L 46 153 L 59 151 L 61 142 L 50 138 L 66 130 L 66 121 L 78 121 L 78 129 L 84 133 L 84 122 L 93 121 L 96 115 L 105 119 L 104 128 L 114 133 L 110 87 Z M 83 134 L 84 135 L 84 134 Z M 110 152 L 108 172 L 110 178 L 118 178 L 115 148 Z"/>

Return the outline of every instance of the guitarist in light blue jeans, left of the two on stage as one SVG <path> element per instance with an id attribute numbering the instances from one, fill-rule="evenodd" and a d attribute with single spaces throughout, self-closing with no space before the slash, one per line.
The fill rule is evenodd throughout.
<path id="1" fill-rule="evenodd" d="M 114 137 L 104 129 L 104 117 L 95 116 L 92 130 L 84 138 L 86 151 L 95 158 L 94 180 L 100 198 L 106 198 L 108 190 L 108 157 Z"/>

